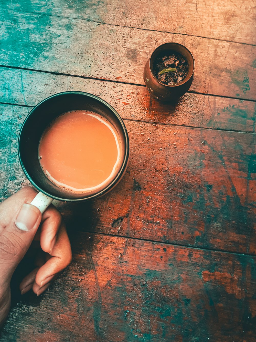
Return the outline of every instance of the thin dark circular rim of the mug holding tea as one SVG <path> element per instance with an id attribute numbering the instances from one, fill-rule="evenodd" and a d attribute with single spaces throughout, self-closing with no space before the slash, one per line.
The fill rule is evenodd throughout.
<path id="1" fill-rule="evenodd" d="M 86 196 L 84 198 L 63 198 L 63 197 L 58 197 L 58 196 L 53 196 L 51 194 L 49 194 L 47 191 L 45 191 L 44 189 L 42 189 L 40 186 L 38 186 L 32 179 L 32 177 L 29 175 L 29 173 L 27 172 L 25 166 L 24 166 L 24 163 L 22 161 L 22 158 L 20 156 L 20 137 L 22 135 L 22 131 L 23 131 L 23 128 L 24 126 L 26 125 L 26 122 L 28 120 L 28 118 L 30 117 L 30 115 L 33 114 L 33 112 L 40 106 L 42 105 L 44 102 L 48 101 L 49 99 L 51 98 L 54 98 L 54 97 L 57 97 L 57 96 L 60 96 L 60 95 L 67 95 L 67 94 L 80 94 L 80 95 L 84 95 L 86 97 L 91 97 L 91 98 L 94 98 L 96 101 L 99 101 L 100 103 L 104 104 L 106 107 L 108 107 L 111 111 L 111 113 L 118 119 L 121 127 L 122 127 L 122 131 L 124 133 L 124 137 L 125 137 L 125 155 L 124 155 L 124 158 L 123 158 L 123 162 L 122 162 L 122 167 L 120 168 L 120 170 L 118 171 L 118 173 L 116 174 L 115 178 L 112 180 L 112 182 L 106 186 L 105 188 L 103 188 L 100 192 L 98 193 L 95 193 L 93 195 L 90 195 L 90 196 Z M 96 95 L 93 95 L 93 94 L 90 94 L 90 93 L 87 93 L 87 92 L 83 92 L 83 91 L 65 91 L 65 92 L 60 92 L 60 93 L 57 93 L 57 94 L 54 94 L 54 95 L 51 95 L 51 96 L 48 96 L 46 97 L 44 100 L 42 100 L 41 102 L 39 102 L 37 105 L 35 105 L 29 112 L 29 114 L 26 116 L 23 124 L 22 124 L 22 127 L 20 128 L 20 131 L 19 131 L 19 137 L 18 137 L 18 157 L 19 157 L 19 162 L 20 162 L 20 165 L 23 169 L 23 172 L 25 173 L 26 177 L 28 178 L 28 180 L 30 181 L 30 183 L 40 192 L 42 192 L 43 194 L 45 194 L 46 196 L 49 196 L 53 199 L 57 199 L 57 200 L 60 200 L 60 201 L 65 201 L 65 202 L 79 202 L 79 201 L 86 201 L 86 200 L 89 200 L 89 199 L 92 199 L 92 198 L 96 198 L 96 197 L 99 197 L 99 196 L 102 196 L 106 193 L 108 193 L 112 188 L 113 186 L 115 186 L 122 178 L 122 176 L 124 175 L 126 169 L 127 169 L 127 164 L 128 164 L 128 160 L 129 160 L 129 151 L 130 151 L 130 147 L 129 147 L 129 136 L 128 136 L 128 132 L 127 132 L 127 129 L 125 127 L 125 124 L 124 124 L 124 121 L 123 119 L 120 117 L 120 115 L 117 113 L 117 111 L 108 103 L 106 102 L 105 100 L 103 100 L 101 97 L 99 96 L 96 96 Z"/>

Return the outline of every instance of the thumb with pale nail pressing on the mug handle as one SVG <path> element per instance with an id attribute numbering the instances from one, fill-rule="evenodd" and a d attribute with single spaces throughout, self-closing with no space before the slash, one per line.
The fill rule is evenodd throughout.
<path id="1" fill-rule="evenodd" d="M 10 281 L 18 263 L 27 252 L 41 222 L 40 210 L 23 204 L 16 217 L 3 229 L 0 235 L 1 275 Z"/>

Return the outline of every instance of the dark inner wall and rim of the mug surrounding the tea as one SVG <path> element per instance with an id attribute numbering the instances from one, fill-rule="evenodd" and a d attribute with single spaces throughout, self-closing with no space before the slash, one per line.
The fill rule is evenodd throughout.
<path id="1" fill-rule="evenodd" d="M 102 190 L 91 193 L 67 192 L 52 183 L 41 169 L 38 160 L 40 138 L 48 124 L 60 114 L 71 110 L 90 110 L 106 118 L 116 129 L 121 145 L 119 169 L 113 181 Z M 67 139 L 69 137 L 67 136 Z M 109 192 L 122 179 L 129 158 L 129 137 L 123 120 L 108 103 L 84 92 L 63 92 L 50 96 L 35 106 L 26 117 L 19 134 L 18 155 L 29 181 L 42 193 L 61 201 L 81 201 Z"/>

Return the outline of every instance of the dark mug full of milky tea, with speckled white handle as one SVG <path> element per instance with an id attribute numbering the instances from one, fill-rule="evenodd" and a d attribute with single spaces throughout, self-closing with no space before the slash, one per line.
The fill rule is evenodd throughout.
<path id="1" fill-rule="evenodd" d="M 113 189 L 127 168 L 129 137 L 116 110 L 100 97 L 62 92 L 30 111 L 18 155 L 39 190 L 31 204 L 43 212 L 53 200 L 84 201 Z"/>

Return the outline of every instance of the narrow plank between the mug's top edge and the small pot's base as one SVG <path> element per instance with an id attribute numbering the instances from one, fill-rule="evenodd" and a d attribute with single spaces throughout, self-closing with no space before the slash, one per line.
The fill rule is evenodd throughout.
<path id="1" fill-rule="evenodd" d="M 256 104 L 250 101 L 187 93 L 171 105 L 151 99 L 142 86 L 0 68 L 1 102 L 34 106 L 69 90 L 102 97 L 124 119 L 246 132 L 254 129 Z"/>

